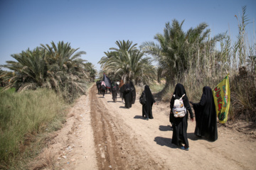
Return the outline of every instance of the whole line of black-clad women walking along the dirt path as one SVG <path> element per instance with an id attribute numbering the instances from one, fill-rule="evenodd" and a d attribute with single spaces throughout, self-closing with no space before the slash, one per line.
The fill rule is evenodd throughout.
<path id="1" fill-rule="evenodd" d="M 124 81 L 118 82 L 119 84 L 113 84 L 117 86 L 117 93 L 112 91 L 112 98 L 116 98 L 119 93 L 122 98 L 122 102 L 125 103 L 126 108 L 131 108 L 132 104 L 135 103 L 136 98 L 136 89 L 132 81 L 124 84 Z M 104 84 L 104 83 L 103 83 Z M 104 94 L 103 94 L 104 96 Z M 144 87 L 142 96 L 144 102 L 142 104 L 142 117 L 145 120 L 153 119 L 152 106 L 156 104 L 154 96 L 151 94 L 151 90 L 148 85 Z M 171 143 L 181 147 L 181 149 L 188 150 L 188 113 L 190 115 L 191 121 L 194 121 L 193 110 L 196 115 L 196 128 L 194 134 L 197 137 L 206 137 L 207 140 L 215 141 L 218 139 L 218 130 L 217 130 L 217 116 L 215 112 L 215 103 L 213 100 L 213 92 L 209 86 L 203 87 L 203 94 L 201 100 L 198 103 L 193 103 L 188 100 L 186 95 L 186 90 L 183 84 L 176 84 L 174 89 L 174 94 L 171 97 L 170 101 L 170 115 L 169 121 L 171 123 L 171 128 L 173 130 Z M 181 105 L 181 108 L 178 108 Z M 182 111 L 181 111 L 182 110 Z"/>

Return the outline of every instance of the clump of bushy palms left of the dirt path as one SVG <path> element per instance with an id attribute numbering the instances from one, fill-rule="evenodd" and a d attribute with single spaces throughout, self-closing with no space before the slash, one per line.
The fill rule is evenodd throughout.
<path id="1" fill-rule="evenodd" d="M 65 98 L 71 101 L 77 93 L 85 93 L 87 72 L 85 72 L 86 60 L 80 57 L 85 52 L 77 52 L 79 49 L 70 47 L 70 43 L 54 42 L 50 45 L 41 45 L 35 50 L 26 50 L 20 54 L 11 55 L 17 62 L 7 61 L 3 65 L 13 71 L 1 77 L 8 79 L 10 87 L 17 91 L 47 87 L 65 94 Z"/>

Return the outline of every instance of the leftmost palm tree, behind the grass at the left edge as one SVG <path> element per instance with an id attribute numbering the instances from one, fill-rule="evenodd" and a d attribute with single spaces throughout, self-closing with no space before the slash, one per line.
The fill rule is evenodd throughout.
<path id="1" fill-rule="evenodd" d="M 15 87 L 17 91 L 25 89 L 35 89 L 37 86 L 46 85 L 47 67 L 45 54 L 38 47 L 31 51 L 22 51 L 19 54 L 11 55 L 17 62 L 6 61 L 3 67 L 13 71 L 7 72 L 4 77 L 9 79 L 9 85 L 6 89 Z"/>

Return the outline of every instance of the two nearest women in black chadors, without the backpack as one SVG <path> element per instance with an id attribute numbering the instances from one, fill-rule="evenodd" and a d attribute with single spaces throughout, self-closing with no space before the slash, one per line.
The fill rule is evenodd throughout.
<path id="1" fill-rule="evenodd" d="M 186 108 L 186 114 L 183 117 L 176 117 L 174 113 L 174 103 L 175 100 L 180 99 L 183 101 L 183 105 Z M 188 101 L 188 96 L 186 96 L 184 86 L 182 84 L 176 84 L 174 95 L 172 96 L 170 102 L 171 113 L 169 120 L 173 129 L 171 143 L 181 146 L 181 149 L 185 150 L 189 149 L 187 136 L 188 113 L 191 121 L 193 122 L 194 120 L 191 105 L 189 103 L 192 104 L 196 115 L 196 128 L 194 134 L 198 137 L 204 136 L 210 141 L 215 141 L 218 139 L 217 116 L 215 112 L 212 89 L 210 89 L 208 86 L 204 86 L 200 102 L 193 103 L 192 101 Z"/>

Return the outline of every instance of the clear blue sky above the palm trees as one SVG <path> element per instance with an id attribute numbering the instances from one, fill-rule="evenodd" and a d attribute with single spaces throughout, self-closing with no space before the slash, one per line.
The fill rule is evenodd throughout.
<path id="1" fill-rule="evenodd" d="M 33 50 L 41 44 L 70 42 L 87 54 L 82 59 L 95 64 L 117 40 L 138 46 L 154 40 L 175 18 L 183 30 L 206 22 L 212 35 L 230 30 L 235 40 L 242 6 L 251 22 L 256 18 L 255 0 L 0 0 L 0 64 L 14 60 L 12 54 Z M 247 27 L 253 37 L 253 23 Z M 254 30 L 253 30 L 254 29 Z"/>

